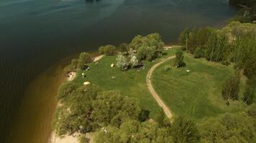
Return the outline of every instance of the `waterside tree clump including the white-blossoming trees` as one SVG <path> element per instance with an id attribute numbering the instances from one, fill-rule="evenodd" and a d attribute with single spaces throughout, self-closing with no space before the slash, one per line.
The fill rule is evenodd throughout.
<path id="1" fill-rule="evenodd" d="M 99 47 L 99 54 L 109 56 L 116 55 L 116 66 L 121 70 L 137 68 L 142 66 L 142 61 L 152 61 L 162 55 L 164 42 L 160 34 L 153 33 L 147 36 L 137 35 L 132 41 L 114 45 Z"/>

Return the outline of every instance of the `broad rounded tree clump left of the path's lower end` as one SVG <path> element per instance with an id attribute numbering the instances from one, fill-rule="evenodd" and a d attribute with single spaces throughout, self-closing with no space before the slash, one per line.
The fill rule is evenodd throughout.
<path id="1" fill-rule="evenodd" d="M 101 125 L 119 127 L 124 120 L 138 119 L 140 107 L 136 100 L 119 92 L 101 92 L 93 101 L 93 120 Z"/>

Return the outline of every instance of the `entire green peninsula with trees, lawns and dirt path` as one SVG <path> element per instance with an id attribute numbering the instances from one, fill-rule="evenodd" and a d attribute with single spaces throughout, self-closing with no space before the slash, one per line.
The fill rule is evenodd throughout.
<path id="1" fill-rule="evenodd" d="M 66 68 L 76 77 L 59 89 L 54 132 L 96 143 L 256 142 L 255 39 L 254 24 L 232 22 L 185 29 L 180 46 L 149 34 L 99 47 L 99 60 L 83 52 Z"/>

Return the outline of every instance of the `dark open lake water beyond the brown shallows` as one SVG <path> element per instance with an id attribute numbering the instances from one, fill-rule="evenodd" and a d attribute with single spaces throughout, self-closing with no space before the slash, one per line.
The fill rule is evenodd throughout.
<path id="1" fill-rule="evenodd" d="M 221 26 L 237 10 L 227 0 L 0 0 L 0 142 L 26 124 L 14 118 L 29 82 L 60 59 L 137 34 L 175 42 L 185 27 Z"/>

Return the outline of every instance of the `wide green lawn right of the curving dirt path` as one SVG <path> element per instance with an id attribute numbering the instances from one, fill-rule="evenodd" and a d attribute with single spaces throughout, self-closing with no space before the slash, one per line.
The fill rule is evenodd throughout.
<path id="1" fill-rule="evenodd" d="M 185 67 L 165 71 L 166 66 L 173 65 L 173 60 L 167 61 L 152 75 L 153 87 L 174 116 L 183 114 L 198 120 L 224 112 L 238 112 L 246 107 L 241 100 L 227 106 L 221 97 L 224 80 L 234 74 L 232 66 L 195 59 L 190 54 L 185 54 L 184 61 Z M 190 72 L 186 72 L 187 69 Z M 244 80 L 242 77 L 241 87 L 244 87 Z"/>

